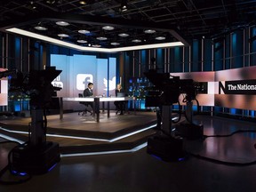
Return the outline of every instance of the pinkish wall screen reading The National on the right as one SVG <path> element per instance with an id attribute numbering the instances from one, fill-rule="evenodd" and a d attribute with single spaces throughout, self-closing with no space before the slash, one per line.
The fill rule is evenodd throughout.
<path id="1" fill-rule="evenodd" d="M 200 106 L 219 106 L 255 110 L 256 67 L 234 68 L 215 72 L 171 73 L 180 79 L 206 83 L 207 92 L 198 93 Z M 182 95 L 180 95 L 182 100 Z M 196 104 L 196 102 L 195 102 Z"/>

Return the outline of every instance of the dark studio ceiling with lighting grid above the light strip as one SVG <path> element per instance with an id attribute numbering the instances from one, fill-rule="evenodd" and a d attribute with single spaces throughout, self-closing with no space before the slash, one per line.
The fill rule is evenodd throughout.
<path id="1" fill-rule="evenodd" d="M 0 3 L 0 28 L 20 28 L 63 42 L 103 48 L 189 42 L 255 25 L 255 0 L 9 0 Z M 127 11 L 121 5 L 127 3 Z M 56 21 L 68 21 L 68 26 Z M 37 30 L 42 25 L 46 30 Z M 112 30 L 102 27 L 111 26 Z M 78 33 L 78 30 L 87 33 Z M 151 29 L 149 33 L 145 30 Z M 152 33 L 155 31 L 155 33 Z M 60 37 L 66 34 L 68 37 Z M 128 34 L 129 36 L 119 36 Z M 156 39 L 156 37 L 164 39 Z M 100 38 L 104 37 L 104 38 Z M 106 39 L 106 38 L 107 39 Z M 78 43 L 77 40 L 84 40 Z M 134 40 L 137 39 L 139 42 Z M 112 44 L 111 44 L 112 43 Z M 118 43 L 118 44 L 113 44 Z"/>

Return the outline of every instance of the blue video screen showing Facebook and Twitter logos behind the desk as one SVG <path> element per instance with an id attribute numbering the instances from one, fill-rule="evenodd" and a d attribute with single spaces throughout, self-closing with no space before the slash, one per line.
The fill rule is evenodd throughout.
<path id="1" fill-rule="evenodd" d="M 51 55 L 51 66 L 62 70 L 52 84 L 61 87 L 59 97 L 78 97 L 88 83 L 93 83 L 93 94 L 115 95 L 116 58 L 101 59 L 95 55 Z"/>

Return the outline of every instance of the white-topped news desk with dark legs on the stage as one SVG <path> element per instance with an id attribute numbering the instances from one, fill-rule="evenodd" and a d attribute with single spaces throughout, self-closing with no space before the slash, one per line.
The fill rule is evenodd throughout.
<path id="1" fill-rule="evenodd" d="M 60 119 L 63 119 L 63 102 L 64 101 L 69 101 L 69 102 L 94 102 L 94 108 L 93 111 L 100 111 L 100 102 L 103 102 L 103 111 L 105 109 L 104 102 L 108 102 L 108 117 L 110 116 L 110 108 L 109 108 L 109 102 L 114 102 L 114 101 L 122 101 L 122 100 L 136 100 L 135 97 L 85 97 L 85 98 L 62 98 L 60 97 Z M 136 111 L 136 102 L 133 102 L 133 108 L 134 112 Z M 96 122 L 100 122 L 100 113 L 95 113 L 93 112 L 93 116 L 95 116 Z"/>

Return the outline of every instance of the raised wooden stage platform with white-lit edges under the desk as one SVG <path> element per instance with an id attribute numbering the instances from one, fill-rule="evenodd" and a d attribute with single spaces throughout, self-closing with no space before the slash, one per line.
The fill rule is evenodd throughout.
<path id="1" fill-rule="evenodd" d="M 0 137 L 9 136 L 28 141 L 30 117 L 1 116 Z M 137 111 L 136 114 L 116 115 L 115 111 L 100 113 L 100 122 L 90 115 L 78 116 L 77 112 L 47 116 L 47 141 L 60 144 L 61 155 L 130 150 L 155 134 L 156 113 Z"/>

